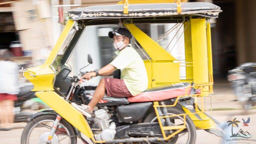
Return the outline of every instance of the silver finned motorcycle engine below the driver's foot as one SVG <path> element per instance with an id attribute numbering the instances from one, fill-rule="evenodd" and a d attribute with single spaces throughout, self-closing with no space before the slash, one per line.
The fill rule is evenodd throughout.
<path id="1" fill-rule="evenodd" d="M 98 141 L 113 140 L 116 134 L 116 126 L 114 122 L 110 124 L 112 120 L 110 119 L 108 112 L 104 109 L 99 109 L 94 112 L 94 115 L 92 120 L 94 124 L 101 129 L 101 132 L 95 135 L 95 138 Z"/>

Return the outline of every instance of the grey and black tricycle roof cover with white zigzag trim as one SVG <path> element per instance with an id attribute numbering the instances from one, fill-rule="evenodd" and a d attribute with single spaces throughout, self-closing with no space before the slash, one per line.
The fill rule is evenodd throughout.
<path id="1" fill-rule="evenodd" d="M 182 3 L 182 12 L 177 13 L 176 3 L 129 4 L 129 14 L 124 14 L 124 5 L 101 5 L 75 8 L 68 11 L 70 20 L 79 19 L 113 19 L 113 18 L 141 18 L 168 16 L 197 16 L 217 18 L 222 12 L 220 7 L 212 3 L 191 2 Z"/>

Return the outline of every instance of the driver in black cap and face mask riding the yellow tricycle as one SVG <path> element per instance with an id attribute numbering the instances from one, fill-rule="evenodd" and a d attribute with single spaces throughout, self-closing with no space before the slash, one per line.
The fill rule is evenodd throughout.
<path id="1" fill-rule="evenodd" d="M 87 113 L 92 112 L 105 93 L 111 97 L 131 97 L 147 89 L 146 68 L 142 58 L 130 44 L 132 38 L 130 31 L 126 28 L 119 28 L 109 32 L 109 37 L 114 40 L 113 45 L 117 49 L 115 54 L 118 56 L 110 64 L 86 73 L 81 78 L 89 80 L 96 76 L 111 76 L 115 69 L 120 69 L 121 79 L 102 78 L 87 109 L 84 109 Z"/>

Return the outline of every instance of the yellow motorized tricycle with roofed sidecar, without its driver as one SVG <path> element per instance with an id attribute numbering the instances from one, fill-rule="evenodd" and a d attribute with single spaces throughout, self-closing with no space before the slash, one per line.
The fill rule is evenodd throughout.
<path id="1" fill-rule="evenodd" d="M 79 138 L 88 144 L 89 138 L 93 143 L 194 144 L 196 129 L 222 136 L 215 129 L 219 122 L 203 106 L 203 97 L 213 93 L 209 19 L 218 17 L 220 12 L 220 7 L 211 3 L 180 0 L 126 0 L 117 5 L 69 10 L 69 20 L 61 22 L 65 28 L 46 62 L 20 70 L 23 78 L 34 84 L 36 96 L 53 109 L 29 118 L 21 143 L 76 144 Z M 186 79 L 179 76 L 181 62 L 135 25 L 145 23 L 184 26 Z M 145 55 L 144 60 L 148 89 L 129 98 L 104 96 L 93 114 L 87 115 L 84 105 L 90 102 L 97 86 L 81 86 L 84 73 L 70 77 L 71 69 L 66 63 L 86 27 L 100 24 L 126 27 L 150 56 Z M 88 63 L 92 64 L 90 55 Z"/>

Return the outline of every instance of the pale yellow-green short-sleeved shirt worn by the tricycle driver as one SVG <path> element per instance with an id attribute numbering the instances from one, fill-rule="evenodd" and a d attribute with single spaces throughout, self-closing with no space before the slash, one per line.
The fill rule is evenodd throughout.
<path id="1" fill-rule="evenodd" d="M 121 51 L 115 52 L 118 56 L 110 63 L 121 70 L 121 79 L 129 92 L 136 96 L 147 89 L 147 71 L 141 56 L 129 44 Z"/>

